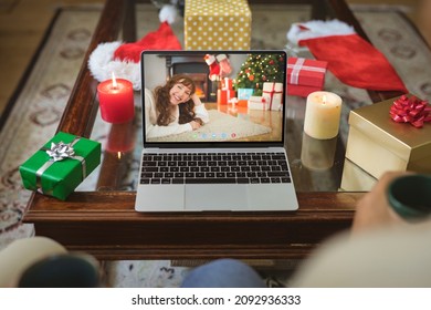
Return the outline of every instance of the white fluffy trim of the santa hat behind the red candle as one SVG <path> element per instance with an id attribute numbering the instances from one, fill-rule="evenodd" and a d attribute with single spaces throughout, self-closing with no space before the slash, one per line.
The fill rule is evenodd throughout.
<path id="1" fill-rule="evenodd" d="M 114 60 L 114 52 L 123 42 L 101 43 L 88 59 L 88 69 L 97 81 L 112 79 L 112 73 L 118 79 L 129 80 L 135 91 L 140 90 L 140 63 Z"/>

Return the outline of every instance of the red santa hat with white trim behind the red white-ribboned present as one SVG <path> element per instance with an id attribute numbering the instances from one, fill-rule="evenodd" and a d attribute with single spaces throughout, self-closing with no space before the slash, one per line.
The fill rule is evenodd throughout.
<path id="1" fill-rule="evenodd" d="M 374 91 L 408 92 L 386 56 L 341 21 L 295 23 L 287 39 L 307 46 L 317 60 L 328 62 L 328 70 L 345 84 Z"/>

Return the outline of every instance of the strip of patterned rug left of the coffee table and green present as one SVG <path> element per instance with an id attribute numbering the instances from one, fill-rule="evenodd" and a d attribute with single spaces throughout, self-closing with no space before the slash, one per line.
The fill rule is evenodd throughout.
<path id="1" fill-rule="evenodd" d="M 0 132 L 0 247 L 33 234 L 32 225 L 20 225 L 31 193 L 22 189 L 18 167 L 55 133 L 97 14 L 61 14 Z"/>

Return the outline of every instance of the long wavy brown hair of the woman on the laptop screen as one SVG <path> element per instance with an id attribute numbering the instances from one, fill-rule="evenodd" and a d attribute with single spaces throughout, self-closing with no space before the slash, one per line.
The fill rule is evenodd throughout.
<path id="1" fill-rule="evenodd" d="M 188 75 L 185 74 L 176 74 L 172 78 L 170 78 L 165 85 L 157 86 L 155 89 L 155 99 L 156 99 L 156 108 L 159 114 L 157 117 L 157 125 L 159 126 L 167 126 L 169 123 L 174 121 L 174 117 L 170 114 L 170 95 L 169 91 L 174 87 L 175 84 L 182 84 L 186 87 L 190 89 L 190 96 L 195 94 L 196 86 L 193 80 L 191 80 Z M 185 102 L 178 105 L 179 107 L 179 123 L 180 124 L 187 124 L 191 121 L 197 121 L 199 123 L 202 123 L 202 121 L 199 117 L 195 117 L 195 103 L 191 100 L 191 97 Z"/>

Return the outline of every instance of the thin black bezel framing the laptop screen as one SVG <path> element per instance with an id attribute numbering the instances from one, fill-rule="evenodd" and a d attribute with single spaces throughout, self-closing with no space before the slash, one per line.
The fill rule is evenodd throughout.
<path id="1" fill-rule="evenodd" d="M 208 141 L 197 141 L 197 142 L 153 142 L 147 141 L 146 137 L 146 124 L 145 124 L 145 55 L 147 54 L 156 54 L 156 55 L 172 55 L 172 56 L 196 56 L 196 55 L 204 55 L 204 54 L 283 54 L 284 55 L 284 72 L 283 72 L 283 95 L 282 95 L 282 136 L 280 141 L 214 141 L 214 142 L 208 142 Z M 164 68 L 166 70 L 166 68 Z M 179 50 L 179 51 L 156 51 L 156 50 L 149 50 L 144 51 L 140 55 L 140 78 L 141 78 L 141 91 L 140 91 L 140 104 L 141 104 L 141 120 L 143 120 L 143 126 L 141 126 L 141 134 L 143 134 L 143 143 L 145 148 L 197 148 L 197 147 L 203 147 L 203 148 L 217 148 L 217 147 L 235 147 L 235 148 L 242 148 L 242 147 L 283 147 L 284 141 L 285 141 L 285 114 L 286 114 L 286 74 L 287 74 L 287 53 L 284 50 L 248 50 L 248 51 L 214 51 L 214 50 Z"/>

